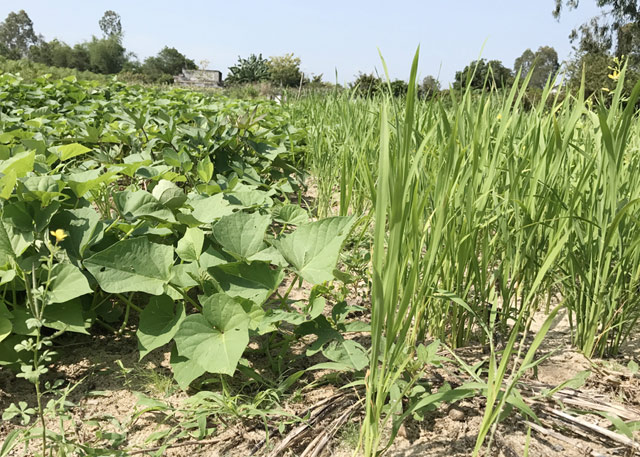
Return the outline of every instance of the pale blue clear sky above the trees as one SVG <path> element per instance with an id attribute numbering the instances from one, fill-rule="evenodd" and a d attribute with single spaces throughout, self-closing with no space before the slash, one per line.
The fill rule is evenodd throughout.
<path id="1" fill-rule="evenodd" d="M 46 40 L 75 44 L 100 36 L 106 10 L 122 18 L 124 46 L 140 60 L 164 46 L 223 76 L 238 56 L 293 52 L 305 74 L 341 84 L 358 73 L 383 74 L 378 50 L 392 79 L 408 79 L 420 45 L 419 75 L 443 86 L 455 72 L 483 57 L 512 68 L 522 52 L 553 46 L 560 60 L 571 55 L 568 35 L 598 14 L 584 0 L 558 21 L 554 0 L 0 0 L 0 20 L 24 9 Z"/>

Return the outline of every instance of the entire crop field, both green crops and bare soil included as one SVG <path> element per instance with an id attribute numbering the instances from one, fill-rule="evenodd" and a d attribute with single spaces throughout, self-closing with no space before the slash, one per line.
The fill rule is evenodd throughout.
<path id="1" fill-rule="evenodd" d="M 640 452 L 640 84 L 416 67 L 282 105 L 0 75 L 0 457 Z"/>

